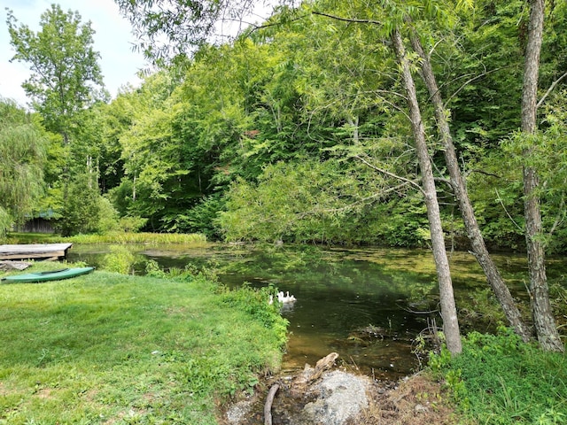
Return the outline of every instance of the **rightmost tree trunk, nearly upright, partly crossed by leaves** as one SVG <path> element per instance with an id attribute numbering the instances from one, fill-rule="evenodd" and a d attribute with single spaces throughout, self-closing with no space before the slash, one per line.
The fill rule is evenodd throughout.
<path id="1" fill-rule="evenodd" d="M 533 135 L 537 130 L 536 109 L 538 76 L 540 73 L 540 51 L 545 15 L 544 0 L 532 0 L 528 41 L 525 47 L 524 87 L 522 89 L 522 133 Z M 524 158 L 532 154 L 524 151 Z M 525 164 L 524 163 L 524 164 Z M 530 273 L 530 295 L 533 323 L 541 348 L 546 351 L 563 352 L 564 347 L 555 327 L 548 295 L 548 278 L 545 267 L 545 250 L 540 240 L 542 235 L 538 172 L 532 166 L 524 166 L 524 216 L 525 240 L 527 243 L 528 268 Z"/>

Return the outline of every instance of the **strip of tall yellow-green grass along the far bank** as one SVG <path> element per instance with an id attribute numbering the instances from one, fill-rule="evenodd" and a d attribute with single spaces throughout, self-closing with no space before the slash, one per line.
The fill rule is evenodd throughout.
<path id="1" fill-rule="evenodd" d="M 206 243 L 206 236 L 183 233 L 109 232 L 62 237 L 44 233 L 11 233 L 5 243 Z"/>

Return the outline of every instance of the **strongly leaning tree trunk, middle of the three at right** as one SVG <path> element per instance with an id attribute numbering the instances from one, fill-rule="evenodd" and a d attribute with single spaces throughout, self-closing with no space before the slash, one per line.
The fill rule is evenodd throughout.
<path id="1" fill-rule="evenodd" d="M 469 236 L 472 252 L 477 258 L 478 264 L 485 272 L 486 280 L 492 288 L 494 295 L 498 298 L 510 326 L 514 328 L 517 335 L 521 336 L 524 342 L 527 343 L 531 336 L 530 329 L 525 326 L 522 321 L 522 317 L 514 302 L 514 298 L 512 298 L 508 286 L 506 286 L 498 268 L 494 264 L 493 259 L 486 249 L 485 239 L 480 232 L 474 209 L 470 204 L 467 186 L 462 178 L 461 169 L 459 168 L 459 162 L 454 150 L 453 136 L 451 135 L 451 130 L 447 120 L 447 110 L 445 109 L 441 99 L 435 74 L 431 67 L 431 61 L 429 56 L 424 53 L 421 41 L 415 33 L 412 33 L 411 35 L 411 43 L 414 50 L 416 50 L 416 53 L 422 59 L 421 66 L 423 81 L 427 86 L 431 96 L 431 102 L 435 108 L 435 119 L 437 121 L 439 136 L 445 147 L 445 162 L 451 179 L 451 187 L 454 192 L 454 197 L 459 203 L 462 221 L 464 222 L 467 236 Z"/>

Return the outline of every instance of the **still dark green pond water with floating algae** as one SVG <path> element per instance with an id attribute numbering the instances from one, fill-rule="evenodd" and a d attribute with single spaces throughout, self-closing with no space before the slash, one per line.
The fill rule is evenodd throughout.
<path id="1" fill-rule="evenodd" d="M 206 243 L 200 246 L 132 245 L 136 273 L 148 260 L 162 268 L 209 267 L 229 287 L 248 282 L 273 285 L 297 298 L 284 305 L 290 322 L 284 370 L 315 365 L 330 352 L 377 379 L 395 379 L 418 367 L 412 341 L 437 320 L 439 290 L 431 251 L 392 249 L 325 249 L 318 247 L 248 247 Z M 71 261 L 104 268 L 110 245 L 74 245 Z M 513 292 L 525 298 L 525 260 L 513 254 L 495 256 Z M 555 273 L 554 264 L 550 274 Z M 559 265 L 564 267 L 564 262 Z M 451 254 L 458 305 L 489 297 L 482 271 L 466 252 Z M 466 330 L 466 329 L 465 329 Z M 478 329 L 487 330 L 487 329 Z"/>

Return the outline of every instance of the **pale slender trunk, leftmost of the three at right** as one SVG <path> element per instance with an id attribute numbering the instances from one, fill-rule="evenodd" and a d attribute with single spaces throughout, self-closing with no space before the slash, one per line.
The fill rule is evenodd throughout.
<path id="1" fill-rule="evenodd" d="M 395 29 L 392 33 L 393 48 L 396 58 L 400 63 L 401 74 L 404 87 L 408 95 L 409 118 L 411 120 L 412 131 L 416 139 L 416 152 L 419 160 L 419 167 L 422 174 L 422 190 L 427 206 L 427 217 L 429 219 L 431 245 L 433 259 L 439 280 L 439 296 L 441 304 L 441 317 L 443 318 L 443 331 L 445 332 L 447 349 L 452 354 L 462 352 L 461 334 L 459 331 L 459 321 L 457 319 L 456 306 L 454 305 L 453 282 L 447 251 L 445 248 L 445 238 L 441 227 L 441 215 L 439 213 L 439 202 L 437 190 L 433 178 L 431 158 L 425 142 L 425 129 L 419 104 L 417 103 L 416 85 L 412 77 L 406 50 L 404 48 L 400 32 Z"/>

